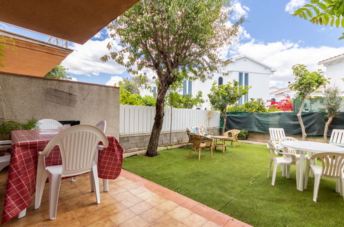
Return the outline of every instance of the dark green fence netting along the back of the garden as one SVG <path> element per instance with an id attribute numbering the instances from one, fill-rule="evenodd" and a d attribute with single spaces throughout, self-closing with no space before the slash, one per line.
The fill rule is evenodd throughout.
<path id="1" fill-rule="evenodd" d="M 322 136 L 327 118 L 325 113 L 303 113 L 303 124 L 305 125 L 308 136 Z M 220 120 L 223 127 L 223 118 Z M 283 128 L 287 135 L 301 134 L 301 127 L 296 113 L 247 113 L 247 112 L 228 112 L 225 129 L 241 129 L 251 132 L 269 133 L 269 128 Z M 327 133 L 330 136 L 332 129 L 344 129 L 344 113 L 336 116 Z"/>

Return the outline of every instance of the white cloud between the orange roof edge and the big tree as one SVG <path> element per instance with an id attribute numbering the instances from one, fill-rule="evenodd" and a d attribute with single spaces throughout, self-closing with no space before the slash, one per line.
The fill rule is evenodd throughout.
<path id="1" fill-rule="evenodd" d="M 112 39 L 104 39 L 103 41 L 89 40 L 83 45 L 74 43 L 71 49 L 74 50 L 65 60 L 62 65 L 68 68 L 68 72 L 77 75 L 98 76 L 99 73 L 108 74 L 122 74 L 125 72 L 125 67 L 110 60 L 103 63 L 101 56 L 108 54 L 109 50 L 106 48 L 109 41 Z M 121 47 L 114 42 L 114 51 L 121 50 Z"/>

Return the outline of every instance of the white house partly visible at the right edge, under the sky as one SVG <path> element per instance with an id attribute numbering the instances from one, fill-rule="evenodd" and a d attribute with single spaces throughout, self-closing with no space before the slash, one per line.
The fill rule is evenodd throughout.
<path id="1" fill-rule="evenodd" d="M 341 88 L 344 92 L 344 54 L 320 61 L 318 65 L 326 67 L 326 77 L 330 78 L 330 83 Z"/>

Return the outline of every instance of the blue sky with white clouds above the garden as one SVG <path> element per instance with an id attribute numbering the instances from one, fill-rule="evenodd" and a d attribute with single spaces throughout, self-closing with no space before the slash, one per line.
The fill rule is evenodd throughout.
<path id="1" fill-rule="evenodd" d="M 270 78 L 270 85 L 283 87 L 292 80 L 292 65 L 303 63 L 310 70 L 319 61 L 344 53 L 344 41 L 338 41 L 343 28 L 330 28 L 292 17 L 291 13 L 306 0 L 233 0 L 232 18 L 246 18 L 241 28 L 241 39 L 224 47 L 227 57 L 247 54 L 278 69 Z M 47 41 L 42 34 L 1 24 L 0 28 Z M 100 57 L 108 52 L 107 31 L 101 30 L 83 45 L 70 43 L 74 50 L 62 65 L 78 81 L 113 85 L 121 78 L 131 78 L 125 68 L 113 61 L 102 63 Z M 119 46 L 117 46 L 119 49 Z M 153 76 L 152 74 L 150 76 Z"/>

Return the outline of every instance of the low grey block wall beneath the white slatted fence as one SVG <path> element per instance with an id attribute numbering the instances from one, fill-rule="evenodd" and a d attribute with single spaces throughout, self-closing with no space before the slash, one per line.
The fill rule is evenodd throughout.
<path id="1" fill-rule="evenodd" d="M 219 135 L 219 128 L 208 129 L 214 135 Z M 136 149 L 146 149 L 148 147 L 148 142 L 150 141 L 150 133 L 139 133 L 139 134 L 129 134 L 121 135 L 119 142 L 122 147 L 127 150 L 127 152 L 134 151 Z M 189 141 L 188 134 L 186 131 L 172 131 L 171 142 L 170 142 L 170 132 L 160 133 L 159 146 L 166 146 L 168 144 L 182 144 Z"/>

